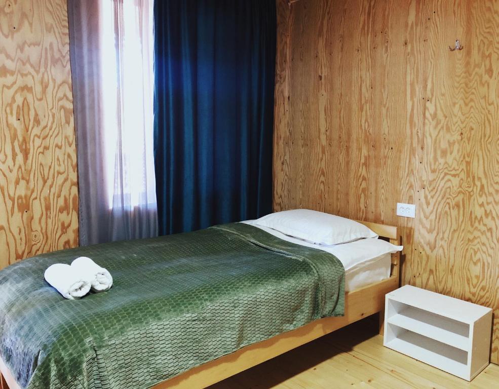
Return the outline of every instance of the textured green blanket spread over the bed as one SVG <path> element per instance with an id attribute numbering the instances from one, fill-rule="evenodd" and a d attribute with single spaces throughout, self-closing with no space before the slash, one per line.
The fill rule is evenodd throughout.
<path id="1" fill-rule="evenodd" d="M 44 280 L 91 257 L 105 293 L 66 300 Z M 145 388 L 344 311 L 344 269 L 242 223 L 39 255 L 0 271 L 0 355 L 29 389 Z"/>

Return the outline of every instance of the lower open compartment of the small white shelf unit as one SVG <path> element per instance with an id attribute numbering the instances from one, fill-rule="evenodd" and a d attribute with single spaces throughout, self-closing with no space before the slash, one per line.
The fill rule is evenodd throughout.
<path id="1" fill-rule="evenodd" d="M 388 326 L 392 327 L 390 330 L 397 333 L 397 336 L 386 346 L 464 378 L 463 373 L 466 372 L 468 364 L 468 352 L 394 324 L 389 323 Z"/>

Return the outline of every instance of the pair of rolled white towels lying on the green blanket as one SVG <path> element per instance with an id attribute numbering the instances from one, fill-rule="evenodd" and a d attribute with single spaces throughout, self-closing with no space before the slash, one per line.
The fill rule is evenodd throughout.
<path id="1" fill-rule="evenodd" d="M 56 263 L 45 270 L 45 280 L 69 300 L 85 296 L 90 290 L 105 292 L 112 286 L 109 271 L 89 257 L 79 257 L 71 265 Z"/>

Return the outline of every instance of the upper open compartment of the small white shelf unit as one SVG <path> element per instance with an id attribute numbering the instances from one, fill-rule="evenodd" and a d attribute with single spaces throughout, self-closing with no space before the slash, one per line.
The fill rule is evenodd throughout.
<path id="1" fill-rule="evenodd" d="M 397 303 L 401 304 L 401 303 Z M 413 306 L 398 306 L 397 314 L 388 318 L 388 323 L 405 328 L 441 343 L 470 351 L 470 326 L 441 315 Z"/>

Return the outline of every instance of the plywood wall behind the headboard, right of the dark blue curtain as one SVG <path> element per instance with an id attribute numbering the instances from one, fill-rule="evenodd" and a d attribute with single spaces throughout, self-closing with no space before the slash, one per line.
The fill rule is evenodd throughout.
<path id="1" fill-rule="evenodd" d="M 498 363 L 499 2 L 277 4 L 274 208 L 401 226 L 402 282 L 492 307 Z"/>

